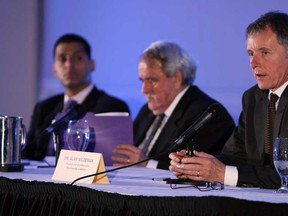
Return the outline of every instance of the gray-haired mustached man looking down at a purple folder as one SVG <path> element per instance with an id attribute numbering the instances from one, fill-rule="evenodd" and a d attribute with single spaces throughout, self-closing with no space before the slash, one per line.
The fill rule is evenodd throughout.
<path id="1" fill-rule="evenodd" d="M 134 121 L 136 147 L 118 145 L 115 153 L 122 157 L 113 157 L 114 165 L 127 165 L 164 153 L 210 105 L 216 103 L 192 85 L 195 70 L 191 57 L 175 43 L 155 42 L 144 51 L 138 71 L 147 104 Z M 210 154 L 221 151 L 223 143 L 232 133 L 234 122 L 222 105 L 219 105 L 217 114 L 215 119 L 196 133 L 193 139 L 195 149 Z M 157 130 L 153 130 L 160 116 L 164 116 L 163 120 Z M 152 131 L 155 131 L 153 137 Z M 141 166 L 168 169 L 169 164 L 166 152 L 141 163 Z"/>

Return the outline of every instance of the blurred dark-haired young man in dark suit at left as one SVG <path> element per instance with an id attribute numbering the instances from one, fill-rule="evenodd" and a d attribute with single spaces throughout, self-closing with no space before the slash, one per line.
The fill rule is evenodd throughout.
<path id="1" fill-rule="evenodd" d="M 54 146 L 49 142 L 50 135 L 38 138 L 69 100 L 83 105 L 87 112 L 129 112 L 124 101 L 93 86 L 91 73 L 95 62 L 91 58 L 90 45 L 83 37 L 76 34 L 61 36 L 54 44 L 53 56 L 53 72 L 65 93 L 36 104 L 23 152 L 23 157 L 29 159 L 42 160 L 46 155 L 55 154 Z"/>

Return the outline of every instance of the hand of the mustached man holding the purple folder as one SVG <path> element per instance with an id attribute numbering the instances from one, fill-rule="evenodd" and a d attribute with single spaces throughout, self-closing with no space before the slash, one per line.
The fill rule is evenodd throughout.
<path id="1" fill-rule="evenodd" d="M 138 147 L 127 144 L 117 145 L 113 153 L 115 153 L 112 156 L 112 160 L 114 161 L 113 166 L 125 166 L 147 158 Z M 138 166 L 145 167 L 147 163 L 146 161 Z"/>

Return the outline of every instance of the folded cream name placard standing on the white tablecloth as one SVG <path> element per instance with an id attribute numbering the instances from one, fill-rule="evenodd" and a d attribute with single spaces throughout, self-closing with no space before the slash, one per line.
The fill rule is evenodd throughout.
<path id="1" fill-rule="evenodd" d="M 73 182 L 79 177 L 103 171 L 105 165 L 102 154 L 62 149 L 52 179 Z M 81 179 L 78 182 L 110 184 L 106 173 Z"/>

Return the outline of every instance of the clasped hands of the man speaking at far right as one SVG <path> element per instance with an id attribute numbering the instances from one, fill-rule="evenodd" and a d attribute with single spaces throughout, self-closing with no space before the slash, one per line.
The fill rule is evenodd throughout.
<path id="1" fill-rule="evenodd" d="M 176 177 L 224 184 L 225 165 L 217 158 L 197 151 L 193 151 L 194 157 L 188 158 L 184 153 L 185 150 L 182 150 L 169 155 L 171 159 L 169 169 Z"/>

